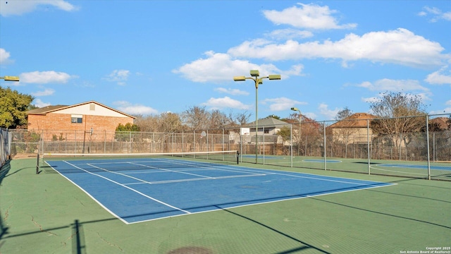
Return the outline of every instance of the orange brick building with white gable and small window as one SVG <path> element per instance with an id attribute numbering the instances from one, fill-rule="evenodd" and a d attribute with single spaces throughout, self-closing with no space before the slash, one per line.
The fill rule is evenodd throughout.
<path id="1" fill-rule="evenodd" d="M 133 123 L 134 116 L 107 107 L 99 102 L 82 102 L 74 105 L 47 106 L 27 111 L 28 131 L 43 133 L 44 139 L 62 133 L 112 133 L 119 123 Z M 67 135 L 67 134 L 65 134 Z M 65 137 L 68 138 L 68 137 Z"/>

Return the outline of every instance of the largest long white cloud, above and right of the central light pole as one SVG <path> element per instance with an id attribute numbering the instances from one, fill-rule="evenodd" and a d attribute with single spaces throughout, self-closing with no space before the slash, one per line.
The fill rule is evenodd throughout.
<path id="1" fill-rule="evenodd" d="M 413 32 L 398 28 L 388 32 L 368 32 L 362 36 L 353 33 L 338 41 L 299 43 L 288 40 L 274 44 L 268 40 L 246 41 L 228 50 L 235 57 L 271 61 L 299 59 L 342 59 L 342 61 L 369 60 L 381 63 L 397 63 L 405 66 L 440 65 L 449 54 L 440 54 L 444 48 L 438 42 L 431 42 Z"/>

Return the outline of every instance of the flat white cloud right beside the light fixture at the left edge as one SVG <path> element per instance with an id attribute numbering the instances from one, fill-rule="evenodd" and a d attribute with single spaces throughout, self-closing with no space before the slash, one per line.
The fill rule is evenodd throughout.
<path id="1" fill-rule="evenodd" d="M 22 83 L 67 83 L 70 78 L 76 78 L 76 75 L 56 71 L 32 71 L 30 73 L 20 73 L 20 82 Z"/>

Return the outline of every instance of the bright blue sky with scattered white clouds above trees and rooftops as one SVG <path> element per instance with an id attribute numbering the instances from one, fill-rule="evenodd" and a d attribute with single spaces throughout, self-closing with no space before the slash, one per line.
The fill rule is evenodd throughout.
<path id="1" fill-rule="evenodd" d="M 37 107 L 95 100 L 128 114 L 190 107 L 316 120 L 383 92 L 451 114 L 451 1 L 1 0 L 0 81 Z"/>

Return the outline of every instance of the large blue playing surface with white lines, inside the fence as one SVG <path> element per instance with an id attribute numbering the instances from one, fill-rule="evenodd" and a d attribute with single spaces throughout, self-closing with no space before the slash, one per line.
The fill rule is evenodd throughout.
<path id="1" fill-rule="evenodd" d="M 166 158 L 47 164 L 126 224 L 393 184 Z"/>

